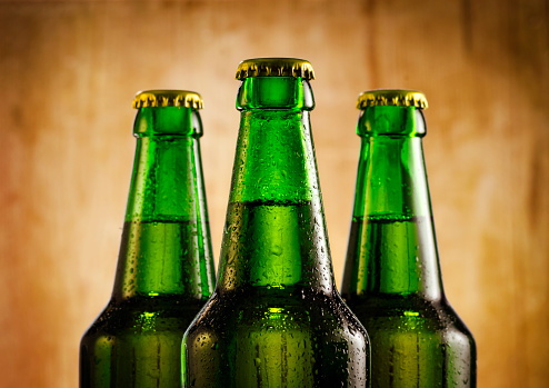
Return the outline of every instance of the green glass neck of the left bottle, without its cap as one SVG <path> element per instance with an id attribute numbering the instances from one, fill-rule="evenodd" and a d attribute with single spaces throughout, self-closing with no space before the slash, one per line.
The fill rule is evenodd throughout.
<path id="1" fill-rule="evenodd" d="M 141 108 L 114 280 L 116 300 L 184 296 L 213 288 L 199 137 L 190 108 Z"/>

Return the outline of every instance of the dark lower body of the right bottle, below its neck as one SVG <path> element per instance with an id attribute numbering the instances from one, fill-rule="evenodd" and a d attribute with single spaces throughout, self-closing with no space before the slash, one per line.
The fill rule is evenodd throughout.
<path id="1" fill-rule="evenodd" d="M 473 388 L 476 347 L 446 302 L 419 297 L 348 301 L 371 342 L 371 388 Z"/>

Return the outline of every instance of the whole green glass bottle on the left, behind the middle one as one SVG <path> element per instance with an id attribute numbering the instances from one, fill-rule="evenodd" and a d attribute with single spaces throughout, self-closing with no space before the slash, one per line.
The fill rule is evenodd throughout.
<path id="1" fill-rule="evenodd" d="M 80 344 L 81 388 L 181 385 L 181 339 L 213 291 L 198 93 L 138 93 L 112 297 Z"/>

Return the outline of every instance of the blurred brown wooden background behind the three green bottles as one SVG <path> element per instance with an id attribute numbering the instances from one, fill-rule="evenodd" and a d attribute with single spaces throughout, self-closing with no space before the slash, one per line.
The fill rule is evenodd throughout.
<path id="1" fill-rule="evenodd" d="M 360 91 L 426 92 L 445 286 L 479 387 L 549 380 L 549 1 L 0 0 L 0 386 L 77 386 L 78 344 L 113 280 L 134 92 L 202 93 L 216 255 L 240 60 L 309 59 L 336 278 Z"/>

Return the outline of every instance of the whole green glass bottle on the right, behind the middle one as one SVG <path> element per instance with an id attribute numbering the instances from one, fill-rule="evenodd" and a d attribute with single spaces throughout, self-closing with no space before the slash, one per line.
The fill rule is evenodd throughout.
<path id="1" fill-rule="evenodd" d="M 475 340 L 442 289 L 421 92 L 359 97 L 357 190 L 341 294 L 371 340 L 372 388 L 476 387 Z"/>

